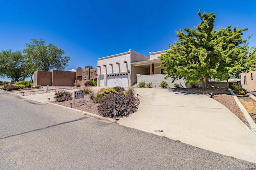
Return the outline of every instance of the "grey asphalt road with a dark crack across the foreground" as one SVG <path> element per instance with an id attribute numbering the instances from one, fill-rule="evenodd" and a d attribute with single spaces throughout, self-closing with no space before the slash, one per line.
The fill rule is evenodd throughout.
<path id="1" fill-rule="evenodd" d="M 0 91 L 0 169 L 241 169 L 256 164 Z"/>

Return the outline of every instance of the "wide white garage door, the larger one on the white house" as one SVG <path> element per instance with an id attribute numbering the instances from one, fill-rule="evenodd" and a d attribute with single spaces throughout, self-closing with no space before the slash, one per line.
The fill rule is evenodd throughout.
<path id="1" fill-rule="evenodd" d="M 107 76 L 107 86 L 128 86 L 128 75 L 126 74 L 109 74 Z"/>

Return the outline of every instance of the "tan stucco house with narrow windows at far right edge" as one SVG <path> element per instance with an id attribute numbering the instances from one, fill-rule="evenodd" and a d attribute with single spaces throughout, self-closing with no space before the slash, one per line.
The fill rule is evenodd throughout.
<path id="1" fill-rule="evenodd" d="M 247 91 L 256 91 L 256 71 L 242 72 L 241 85 Z"/>

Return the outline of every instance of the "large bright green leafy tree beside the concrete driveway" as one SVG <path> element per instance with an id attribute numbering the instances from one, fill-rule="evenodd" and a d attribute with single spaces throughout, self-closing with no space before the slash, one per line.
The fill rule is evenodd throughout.
<path id="1" fill-rule="evenodd" d="M 250 49 L 242 39 L 245 29 L 231 25 L 214 30 L 214 13 L 198 16 L 201 23 L 195 29 L 184 28 L 177 32 L 178 40 L 169 45 L 170 50 L 159 59 L 166 67 L 166 78 L 184 78 L 187 82 L 202 81 L 207 87 L 208 78 L 227 80 L 230 75 L 238 76 L 256 68 L 255 48 Z"/>

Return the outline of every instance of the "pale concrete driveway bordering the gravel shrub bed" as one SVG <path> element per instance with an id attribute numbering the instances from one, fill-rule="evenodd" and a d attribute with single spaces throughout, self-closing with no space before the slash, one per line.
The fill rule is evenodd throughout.
<path id="1" fill-rule="evenodd" d="M 120 125 L 256 163 L 256 135 L 216 100 L 160 88 L 137 88 L 137 93 L 138 111 L 121 118 Z M 23 97 L 44 103 L 53 96 L 52 92 Z"/>

